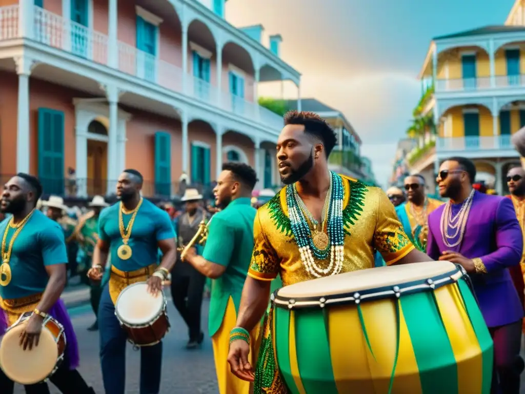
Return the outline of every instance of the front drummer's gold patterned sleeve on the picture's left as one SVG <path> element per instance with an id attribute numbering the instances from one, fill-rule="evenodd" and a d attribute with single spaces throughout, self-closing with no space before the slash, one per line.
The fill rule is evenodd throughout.
<path id="1" fill-rule="evenodd" d="M 276 251 L 268 242 L 261 225 L 260 213 L 257 210 L 254 221 L 254 251 L 251 255 L 248 276 L 259 281 L 271 281 L 279 274 L 279 260 Z"/>

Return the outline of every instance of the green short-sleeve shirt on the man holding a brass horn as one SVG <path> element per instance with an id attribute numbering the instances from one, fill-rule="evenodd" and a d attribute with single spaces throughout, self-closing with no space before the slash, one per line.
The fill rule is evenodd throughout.
<path id="1" fill-rule="evenodd" d="M 240 296 L 254 248 L 256 212 L 249 198 L 239 198 L 217 212 L 209 223 L 203 257 L 226 267 L 224 274 L 212 281 L 208 319 L 210 336 L 222 324 L 229 297 L 233 299 L 236 312 L 239 310 Z"/>

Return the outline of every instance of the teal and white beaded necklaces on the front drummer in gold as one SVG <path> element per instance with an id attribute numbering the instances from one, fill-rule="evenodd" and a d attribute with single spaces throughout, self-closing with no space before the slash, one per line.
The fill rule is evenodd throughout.
<path id="1" fill-rule="evenodd" d="M 289 185 L 286 188 L 286 204 L 290 217 L 291 230 L 299 247 L 301 261 L 306 271 L 318 278 L 339 274 L 343 267 L 343 181 L 338 174 L 332 171 L 330 171 L 330 178 L 332 186 L 331 190 L 329 190 L 330 199 L 328 200 L 326 213 L 326 229 L 329 242 L 323 249 L 318 248 L 313 242 L 310 226 L 303 213 L 306 205 L 304 205 L 297 193 L 296 185 Z M 308 210 L 306 211 L 308 212 Z M 321 268 L 314 260 L 314 257 L 317 258 L 317 260 L 326 260 L 328 256 L 330 256 L 330 264 L 327 268 Z"/>

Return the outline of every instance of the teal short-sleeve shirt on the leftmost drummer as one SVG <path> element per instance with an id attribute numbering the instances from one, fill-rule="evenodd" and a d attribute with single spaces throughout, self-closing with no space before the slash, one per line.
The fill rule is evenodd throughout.
<path id="1" fill-rule="evenodd" d="M 0 237 L 6 230 L 7 249 L 16 231 L 9 226 L 9 220 L 0 223 Z M 7 286 L 0 286 L 0 296 L 16 299 L 43 293 L 49 279 L 46 266 L 66 264 L 67 261 L 62 227 L 35 210 L 13 243 L 9 260 L 12 279 Z"/>

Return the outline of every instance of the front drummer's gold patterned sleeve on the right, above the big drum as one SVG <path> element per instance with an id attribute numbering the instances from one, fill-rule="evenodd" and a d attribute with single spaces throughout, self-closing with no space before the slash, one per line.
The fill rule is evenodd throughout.
<path id="1" fill-rule="evenodd" d="M 408 240 L 401 222 L 397 219 L 394 205 L 385 192 L 377 188 L 377 222 L 374 246 L 383 256 L 387 265 L 394 264 L 414 249 Z"/>

